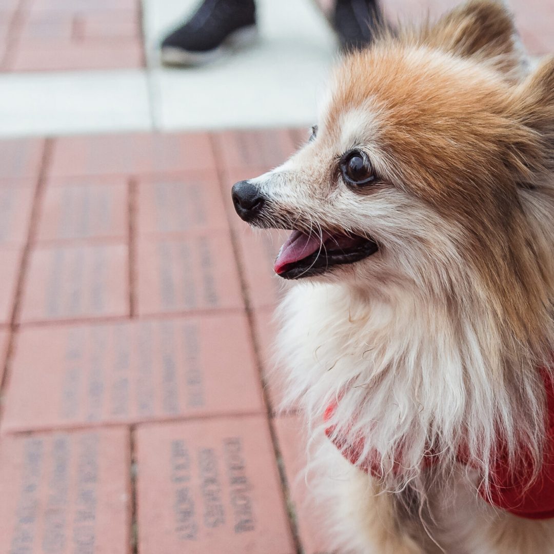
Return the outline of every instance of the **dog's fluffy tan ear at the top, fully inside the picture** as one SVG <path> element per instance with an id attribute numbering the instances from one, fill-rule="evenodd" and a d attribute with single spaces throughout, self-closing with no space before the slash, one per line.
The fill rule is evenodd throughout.
<path id="1" fill-rule="evenodd" d="M 493 0 L 471 0 L 422 33 L 431 47 L 478 58 L 507 74 L 519 69 L 525 58 L 511 13 Z"/>

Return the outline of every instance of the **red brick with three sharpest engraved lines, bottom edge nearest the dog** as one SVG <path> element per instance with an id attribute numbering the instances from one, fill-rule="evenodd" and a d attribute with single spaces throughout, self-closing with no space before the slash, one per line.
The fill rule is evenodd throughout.
<path id="1" fill-rule="evenodd" d="M 137 432 L 142 554 L 293 554 L 263 417 Z"/>

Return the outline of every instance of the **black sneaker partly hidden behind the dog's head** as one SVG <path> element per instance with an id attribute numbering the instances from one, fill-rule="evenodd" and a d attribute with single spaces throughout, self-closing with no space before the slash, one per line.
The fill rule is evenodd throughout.
<path id="1" fill-rule="evenodd" d="M 342 50 L 366 47 L 381 22 L 376 0 L 336 0 L 332 23 Z"/>

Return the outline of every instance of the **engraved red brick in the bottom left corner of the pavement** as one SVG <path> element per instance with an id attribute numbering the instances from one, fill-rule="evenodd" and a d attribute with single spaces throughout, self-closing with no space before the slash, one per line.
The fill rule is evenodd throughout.
<path id="1" fill-rule="evenodd" d="M 0 438 L 0 552 L 129 554 L 129 432 Z"/>

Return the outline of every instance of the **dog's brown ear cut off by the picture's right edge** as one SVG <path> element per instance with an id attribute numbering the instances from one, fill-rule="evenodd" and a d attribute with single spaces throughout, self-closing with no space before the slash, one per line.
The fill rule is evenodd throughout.
<path id="1" fill-rule="evenodd" d="M 554 57 L 543 61 L 509 98 L 512 131 L 527 130 L 526 140 L 513 140 L 512 148 L 535 181 L 552 184 L 554 174 Z"/>

